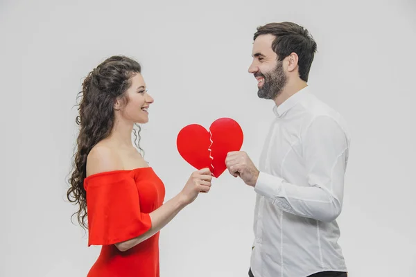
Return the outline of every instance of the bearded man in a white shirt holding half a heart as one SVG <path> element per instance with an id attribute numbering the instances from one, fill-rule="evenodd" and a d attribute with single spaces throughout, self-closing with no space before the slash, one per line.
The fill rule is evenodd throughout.
<path id="1" fill-rule="evenodd" d="M 307 85 L 316 43 L 291 22 L 257 28 L 249 72 L 275 101 L 259 169 L 229 152 L 229 172 L 257 193 L 249 276 L 347 276 L 336 218 L 343 206 L 349 135 Z"/>

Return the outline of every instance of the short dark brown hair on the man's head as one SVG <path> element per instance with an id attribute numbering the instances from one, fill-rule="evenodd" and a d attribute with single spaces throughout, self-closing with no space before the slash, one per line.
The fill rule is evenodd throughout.
<path id="1" fill-rule="evenodd" d="M 259 35 L 268 34 L 275 36 L 272 49 L 280 61 L 291 53 L 297 54 L 300 78 L 308 82 L 309 71 L 317 48 L 309 31 L 293 22 L 269 23 L 257 28 L 253 40 Z"/>

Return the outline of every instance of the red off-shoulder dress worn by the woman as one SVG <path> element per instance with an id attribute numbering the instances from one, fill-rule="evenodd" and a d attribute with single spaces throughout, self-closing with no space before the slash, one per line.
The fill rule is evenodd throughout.
<path id="1" fill-rule="evenodd" d="M 159 232 L 128 251 L 116 242 L 150 229 L 149 213 L 162 206 L 164 184 L 152 168 L 101 172 L 85 178 L 88 247 L 102 245 L 87 277 L 159 277 Z"/>

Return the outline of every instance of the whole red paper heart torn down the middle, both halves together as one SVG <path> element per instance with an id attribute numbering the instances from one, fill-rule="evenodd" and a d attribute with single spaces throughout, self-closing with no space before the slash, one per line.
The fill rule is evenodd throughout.
<path id="1" fill-rule="evenodd" d="M 218 178 L 227 168 L 227 153 L 241 149 L 243 130 L 231 118 L 218 118 L 209 131 L 201 125 L 191 124 L 177 134 L 176 145 L 182 158 L 191 166 L 198 170 L 209 168 Z"/>

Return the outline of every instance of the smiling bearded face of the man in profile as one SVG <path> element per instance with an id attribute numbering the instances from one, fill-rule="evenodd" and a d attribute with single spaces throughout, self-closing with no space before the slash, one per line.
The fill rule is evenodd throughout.
<path id="1" fill-rule="evenodd" d="M 254 40 L 253 62 L 248 69 L 257 79 L 259 98 L 275 99 L 287 82 L 283 62 L 277 61 L 277 54 L 272 49 L 273 35 L 259 35 Z"/>

